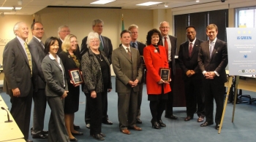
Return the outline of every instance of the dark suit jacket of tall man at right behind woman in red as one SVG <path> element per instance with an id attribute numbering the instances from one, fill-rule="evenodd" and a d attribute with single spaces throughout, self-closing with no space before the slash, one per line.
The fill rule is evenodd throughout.
<path id="1" fill-rule="evenodd" d="M 175 54 L 176 54 L 176 44 L 177 44 L 177 38 L 175 36 L 170 36 L 169 35 L 169 39 L 170 39 L 170 44 L 172 46 L 171 48 L 171 55 L 170 55 L 170 58 L 172 60 L 172 66 L 170 66 L 170 68 L 172 68 L 172 71 L 173 71 L 173 75 L 176 74 L 176 65 L 175 65 Z M 163 45 L 162 44 L 162 40 L 159 41 L 160 42 L 160 45 Z"/>

